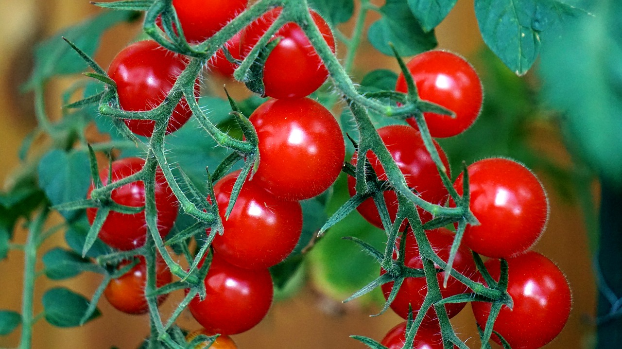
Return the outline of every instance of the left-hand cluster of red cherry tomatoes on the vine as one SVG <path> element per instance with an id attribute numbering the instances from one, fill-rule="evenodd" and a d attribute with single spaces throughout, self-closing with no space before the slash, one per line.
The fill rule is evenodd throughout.
<path id="1" fill-rule="evenodd" d="M 247 0 L 209 1 L 174 0 L 172 6 L 179 22 L 174 34 L 190 44 L 209 39 L 231 19 L 244 11 Z M 244 30 L 234 35 L 224 48 L 211 57 L 212 72 L 231 75 L 237 62 L 229 62 L 223 49 L 236 59 L 244 58 L 281 13 L 271 9 Z M 328 45 L 335 40 L 328 24 L 310 12 Z M 170 17 L 169 17 L 170 18 Z M 156 24 L 163 29 L 162 17 Z M 170 32 L 169 32 L 170 34 Z M 249 118 L 258 136 L 259 165 L 243 184 L 231 215 L 225 212 L 239 175 L 233 172 L 214 186 L 210 202 L 218 204 L 224 233 L 211 245 L 210 266 L 205 277 L 206 296 L 191 300 L 188 309 L 204 327 L 203 333 L 224 335 L 254 327 L 266 315 L 272 303 L 272 277 L 268 268 L 283 261 L 298 243 L 302 231 L 299 200 L 312 198 L 327 190 L 341 172 L 345 142 L 337 120 L 327 108 L 307 98 L 327 79 L 328 72 L 302 29 L 290 22 L 270 40 L 278 40 L 264 64 L 262 73 L 266 101 Z M 295 71 L 282 74 L 283 62 Z M 188 58 L 146 40 L 129 45 L 114 58 L 108 69 L 116 85 L 119 107 L 127 111 L 148 111 L 166 103 Z M 198 95 L 198 78 L 195 92 Z M 181 100 L 169 117 L 167 133 L 179 129 L 192 116 L 188 103 Z M 155 122 L 126 120 L 129 129 L 151 137 Z M 142 159 L 122 159 L 112 164 L 113 171 L 100 174 L 104 185 L 137 174 Z M 91 187 L 89 196 L 94 187 Z M 141 181 L 113 190 L 111 200 L 131 207 L 145 204 Z M 106 205 L 106 202 L 101 202 Z M 179 204 L 162 173 L 156 172 L 156 206 L 159 233 L 167 235 L 177 216 Z M 98 208 L 88 210 L 93 223 Z M 209 233 L 209 231 L 208 231 Z M 144 213 L 133 215 L 112 210 L 100 230 L 100 238 L 118 249 L 139 248 L 147 236 Z M 129 263 L 129 262 L 128 262 Z M 202 261 L 203 263 L 203 261 Z M 119 264 L 123 268 L 126 262 Z M 160 265 L 164 269 L 160 271 Z M 164 263 L 158 263 L 157 286 L 171 282 Z M 141 262 L 131 271 L 111 281 L 105 295 L 117 309 L 129 314 L 147 310 L 144 295 L 145 266 Z M 162 275 L 160 275 L 162 274 Z M 161 276 L 161 277 L 160 277 Z M 163 297 L 159 298 L 161 302 Z M 234 347 L 228 337 L 220 337 L 211 347 Z"/>

